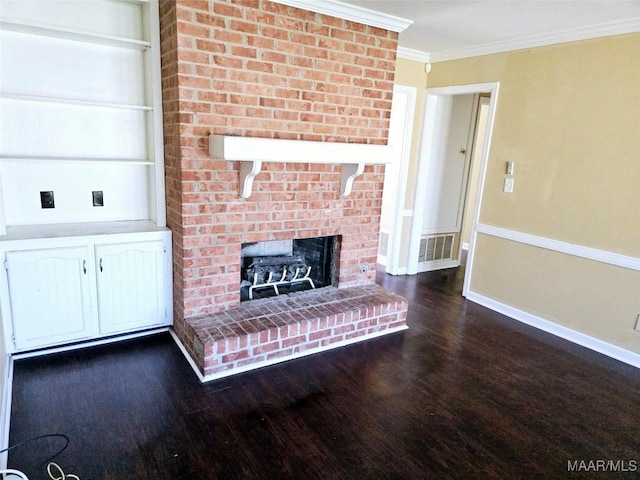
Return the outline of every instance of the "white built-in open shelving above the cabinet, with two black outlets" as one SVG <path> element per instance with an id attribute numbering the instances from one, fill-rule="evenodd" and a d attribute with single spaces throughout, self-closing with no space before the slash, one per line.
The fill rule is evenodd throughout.
<path id="1" fill-rule="evenodd" d="M 158 0 L 7 1 L 0 34 L 0 237 L 25 224 L 164 226 Z"/>

